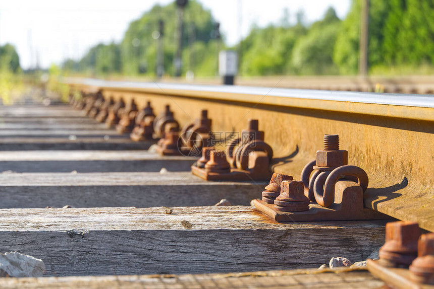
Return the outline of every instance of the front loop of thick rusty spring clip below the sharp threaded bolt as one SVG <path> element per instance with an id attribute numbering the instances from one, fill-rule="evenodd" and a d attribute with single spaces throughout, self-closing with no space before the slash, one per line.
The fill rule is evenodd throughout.
<path id="1" fill-rule="evenodd" d="M 319 205 L 323 207 L 329 207 L 333 204 L 335 200 L 335 184 L 344 176 L 356 177 L 358 179 L 359 185 L 362 187 L 363 192 L 366 191 L 369 183 L 366 172 L 356 166 L 341 166 L 334 169 L 330 173 L 320 173 L 314 180 L 313 193 L 315 200 Z"/>

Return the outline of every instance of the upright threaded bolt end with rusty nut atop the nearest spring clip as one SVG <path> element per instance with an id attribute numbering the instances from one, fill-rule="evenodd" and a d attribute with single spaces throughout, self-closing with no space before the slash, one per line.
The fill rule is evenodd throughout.
<path id="1" fill-rule="evenodd" d="M 316 166 L 335 168 L 348 165 L 348 151 L 339 150 L 339 135 L 324 134 L 324 149 L 316 152 Z"/>

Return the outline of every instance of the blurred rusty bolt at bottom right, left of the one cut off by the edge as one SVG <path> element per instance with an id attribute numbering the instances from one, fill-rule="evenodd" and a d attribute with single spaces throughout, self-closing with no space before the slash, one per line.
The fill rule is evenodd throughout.
<path id="1" fill-rule="evenodd" d="M 387 267 L 408 267 L 417 257 L 420 229 L 415 222 L 386 224 L 386 242 L 378 252 L 379 262 Z"/>

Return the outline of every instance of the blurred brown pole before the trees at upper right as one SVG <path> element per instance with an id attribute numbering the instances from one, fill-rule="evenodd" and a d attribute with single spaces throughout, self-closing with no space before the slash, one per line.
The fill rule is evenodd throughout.
<path id="1" fill-rule="evenodd" d="M 360 17 L 359 75 L 368 75 L 369 0 L 362 0 Z"/>

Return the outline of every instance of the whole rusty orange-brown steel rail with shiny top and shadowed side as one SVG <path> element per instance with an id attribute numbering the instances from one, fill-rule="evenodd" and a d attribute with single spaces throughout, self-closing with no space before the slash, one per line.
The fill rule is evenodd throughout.
<path id="1" fill-rule="evenodd" d="M 339 134 L 348 162 L 369 176 L 364 204 L 434 230 L 434 96 L 240 86 L 65 79 L 74 90 L 134 99 L 155 112 L 169 104 L 180 125 L 207 109 L 212 130 L 240 131 L 259 119 L 274 172 L 301 179 L 324 134 Z M 259 195 L 258 195 L 259 197 Z"/>

